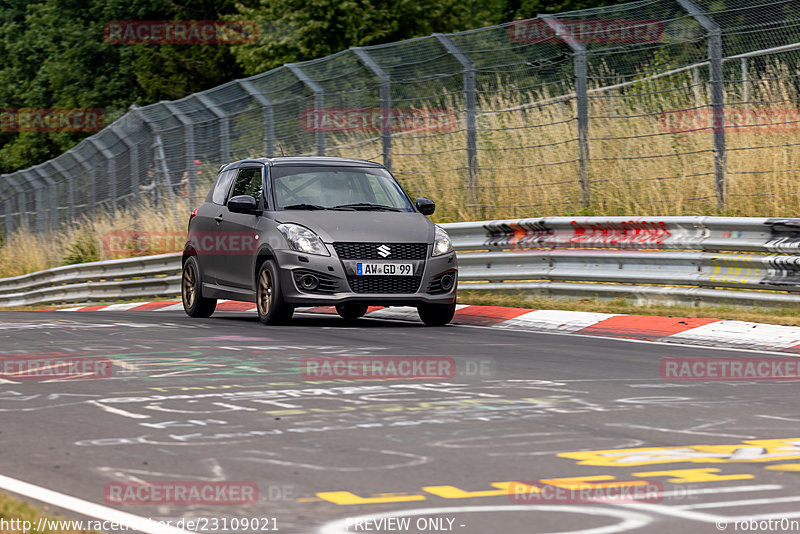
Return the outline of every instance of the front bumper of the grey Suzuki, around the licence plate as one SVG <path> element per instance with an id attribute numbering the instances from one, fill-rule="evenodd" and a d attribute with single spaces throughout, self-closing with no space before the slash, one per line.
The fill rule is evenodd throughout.
<path id="1" fill-rule="evenodd" d="M 341 260 L 333 247 L 331 256 L 275 251 L 284 299 L 293 306 L 333 306 L 345 303 L 371 306 L 418 306 L 452 304 L 456 300 L 458 262 L 454 252 L 420 260 L 382 260 L 380 263 L 412 264 L 413 276 L 358 276 L 362 260 Z M 430 255 L 430 246 L 426 256 Z M 375 261 L 375 260 L 363 260 Z M 452 287 L 440 283 L 449 273 Z M 313 276 L 319 285 L 302 287 L 303 277 Z M 449 280 L 448 280 L 449 281 Z"/>

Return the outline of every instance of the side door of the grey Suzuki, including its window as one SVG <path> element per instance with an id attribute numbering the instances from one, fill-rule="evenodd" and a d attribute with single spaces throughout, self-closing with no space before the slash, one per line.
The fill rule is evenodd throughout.
<path id="1" fill-rule="evenodd" d="M 227 200 L 239 195 L 250 195 L 259 209 L 263 204 L 264 165 L 239 168 Z M 259 215 L 236 213 L 226 207 L 219 225 L 221 269 L 219 281 L 230 289 L 253 290 L 255 280 L 255 252 L 258 248 Z"/>

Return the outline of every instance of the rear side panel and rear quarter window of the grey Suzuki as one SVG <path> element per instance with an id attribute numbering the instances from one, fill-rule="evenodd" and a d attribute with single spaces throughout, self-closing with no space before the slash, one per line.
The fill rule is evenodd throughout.
<path id="1" fill-rule="evenodd" d="M 218 283 L 217 278 L 222 263 L 220 255 L 215 251 L 215 234 L 219 231 L 225 201 L 236 173 L 237 169 L 231 169 L 219 174 L 210 197 L 197 208 L 197 214 L 192 220 L 189 241 L 197 251 L 197 261 L 200 264 L 200 274 L 204 284 Z"/>

